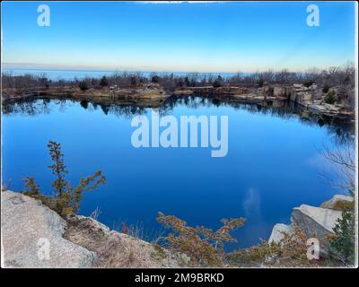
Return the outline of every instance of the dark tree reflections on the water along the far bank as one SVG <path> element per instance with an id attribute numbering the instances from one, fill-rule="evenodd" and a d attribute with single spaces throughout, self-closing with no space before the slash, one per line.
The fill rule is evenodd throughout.
<path id="1" fill-rule="evenodd" d="M 105 115 L 115 115 L 117 117 L 135 117 L 144 115 L 151 106 L 140 106 L 135 102 L 92 102 L 91 100 L 50 100 L 49 98 L 27 98 L 22 100 L 6 100 L 2 105 L 4 115 L 22 114 L 35 116 L 38 114 L 48 114 L 51 110 L 58 108 L 65 110 L 69 102 L 79 104 L 83 109 L 94 111 L 101 109 Z M 161 116 L 169 115 L 178 106 L 186 106 L 189 109 L 230 107 L 232 109 L 246 110 L 252 114 L 263 114 L 271 117 L 281 117 L 285 119 L 297 119 L 305 125 L 325 126 L 328 134 L 338 144 L 347 143 L 355 139 L 355 124 L 351 118 L 329 117 L 318 115 L 303 109 L 294 102 L 280 102 L 274 105 L 273 102 L 244 103 L 233 101 L 221 97 L 197 97 L 171 96 L 165 100 L 159 109 Z"/>

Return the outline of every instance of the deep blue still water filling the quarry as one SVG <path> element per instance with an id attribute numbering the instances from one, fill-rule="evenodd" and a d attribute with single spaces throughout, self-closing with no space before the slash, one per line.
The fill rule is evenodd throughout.
<path id="1" fill-rule="evenodd" d="M 290 222 L 293 207 L 319 205 L 336 193 L 320 178 L 328 162 L 319 150 L 323 143 L 337 144 L 339 127 L 252 106 L 172 103 L 165 113 L 176 117 L 228 116 L 228 154 L 212 158 L 211 148 L 134 148 L 134 110 L 70 100 L 3 105 L 3 183 L 20 191 L 22 178 L 32 176 L 49 192 L 46 144 L 55 140 L 63 146 L 73 185 L 99 169 L 107 177 L 105 186 L 85 194 L 81 214 L 99 206 L 101 222 L 111 228 L 140 223 L 147 236 L 162 230 L 155 220 L 159 211 L 213 229 L 223 217 L 245 217 L 230 248 L 268 239 L 276 222 Z M 144 112 L 150 115 L 151 109 Z"/>

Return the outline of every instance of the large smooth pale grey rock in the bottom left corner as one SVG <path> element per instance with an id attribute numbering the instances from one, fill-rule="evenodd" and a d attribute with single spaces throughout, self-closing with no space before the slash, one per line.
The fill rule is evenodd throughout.
<path id="1" fill-rule="evenodd" d="M 3 267 L 91 267 L 94 254 L 64 239 L 66 222 L 29 196 L 1 193 Z"/>

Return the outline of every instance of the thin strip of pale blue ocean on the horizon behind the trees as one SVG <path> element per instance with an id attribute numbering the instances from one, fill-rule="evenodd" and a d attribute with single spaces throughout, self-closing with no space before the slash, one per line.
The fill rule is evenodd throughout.
<path id="1" fill-rule="evenodd" d="M 119 71 L 121 72 L 121 71 Z M 45 70 L 45 69 L 18 69 L 18 68 L 5 68 L 3 67 L 2 73 L 11 73 L 13 75 L 22 75 L 22 74 L 34 74 L 34 75 L 42 75 L 50 80 L 73 80 L 74 78 L 83 79 L 85 77 L 95 77 L 100 78 L 103 75 L 110 75 L 115 73 L 115 71 L 96 71 L 96 70 Z M 149 77 L 152 72 L 141 72 L 144 76 Z M 156 72 L 158 75 L 162 74 L 171 74 L 171 72 Z M 173 72 L 172 74 L 183 76 L 188 73 L 186 72 Z M 199 74 L 213 74 L 215 76 L 221 75 L 223 77 L 230 77 L 235 73 L 199 73 Z M 247 75 L 250 73 L 242 73 L 241 75 Z"/>

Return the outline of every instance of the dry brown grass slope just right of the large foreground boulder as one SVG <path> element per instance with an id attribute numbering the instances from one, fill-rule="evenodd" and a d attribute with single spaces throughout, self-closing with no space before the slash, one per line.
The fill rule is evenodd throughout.
<path id="1" fill-rule="evenodd" d="M 129 234 L 109 230 L 89 217 L 69 216 L 64 237 L 96 254 L 94 267 L 151 268 L 177 267 L 181 256 L 135 236 L 144 236 L 140 225 L 129 228 Z"/>

